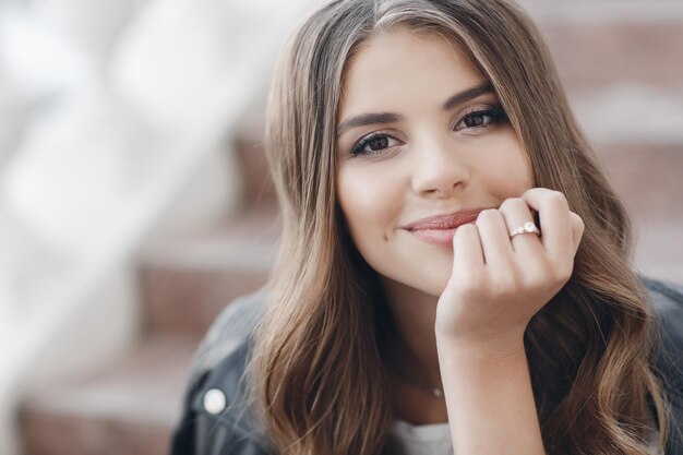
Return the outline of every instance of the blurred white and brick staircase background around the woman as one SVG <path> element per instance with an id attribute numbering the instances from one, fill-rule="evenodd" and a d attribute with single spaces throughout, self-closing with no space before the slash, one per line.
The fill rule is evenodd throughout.
<path id="1" fill-rule="evenodd" d="M 277 243 L 271 71 L 320 0 L 0 0 L 0 454 L 165 454 L 192 351 Z M 683 283 L 683 1 L 524 0 Z"/>

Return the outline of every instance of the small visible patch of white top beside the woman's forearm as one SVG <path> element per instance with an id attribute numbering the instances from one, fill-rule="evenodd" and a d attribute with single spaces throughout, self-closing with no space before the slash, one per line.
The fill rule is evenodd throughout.
<path id="1" fill-rule="evenodd" d="M 400 444 L 405 455 L 453 455 L 448 423 L 414 426 L 396 419 L 390 433 Z"/>

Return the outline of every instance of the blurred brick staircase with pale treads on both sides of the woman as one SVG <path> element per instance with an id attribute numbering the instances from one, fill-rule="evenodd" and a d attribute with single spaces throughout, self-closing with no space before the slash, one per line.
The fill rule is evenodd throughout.
<path id="1" fill-rule="evenodd" d="M 683 3 L 526 1 L 618 192 L 632 212 L 636 262 L 683 283 Z M 165 454 L 191 354 L 235 297 L 263 285 L 278 220 L 261 137 L 240 139 L 249 208 L 139 259 L 137 345 L 23 400 L 26 455 Z"/>

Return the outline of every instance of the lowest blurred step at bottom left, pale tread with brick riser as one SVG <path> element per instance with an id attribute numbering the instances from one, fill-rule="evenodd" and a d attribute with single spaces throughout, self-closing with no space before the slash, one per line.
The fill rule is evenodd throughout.
<path id="1" fill-rule="evenodd" d="M 165 455 L 194 342 L 149 338 L 106 367 L 31 393 L 20 410 L 25 455 Z"/>

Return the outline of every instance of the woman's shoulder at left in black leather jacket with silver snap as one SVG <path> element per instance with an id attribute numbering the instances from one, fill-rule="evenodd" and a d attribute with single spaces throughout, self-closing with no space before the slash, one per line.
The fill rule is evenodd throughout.
<path id="1" fill-rule="evenodd" d="M 235 300 L 206 333 L 194 355 L 171 454 L 268 454 L 245 374 L 264 300 L 264 291 Z"/>

